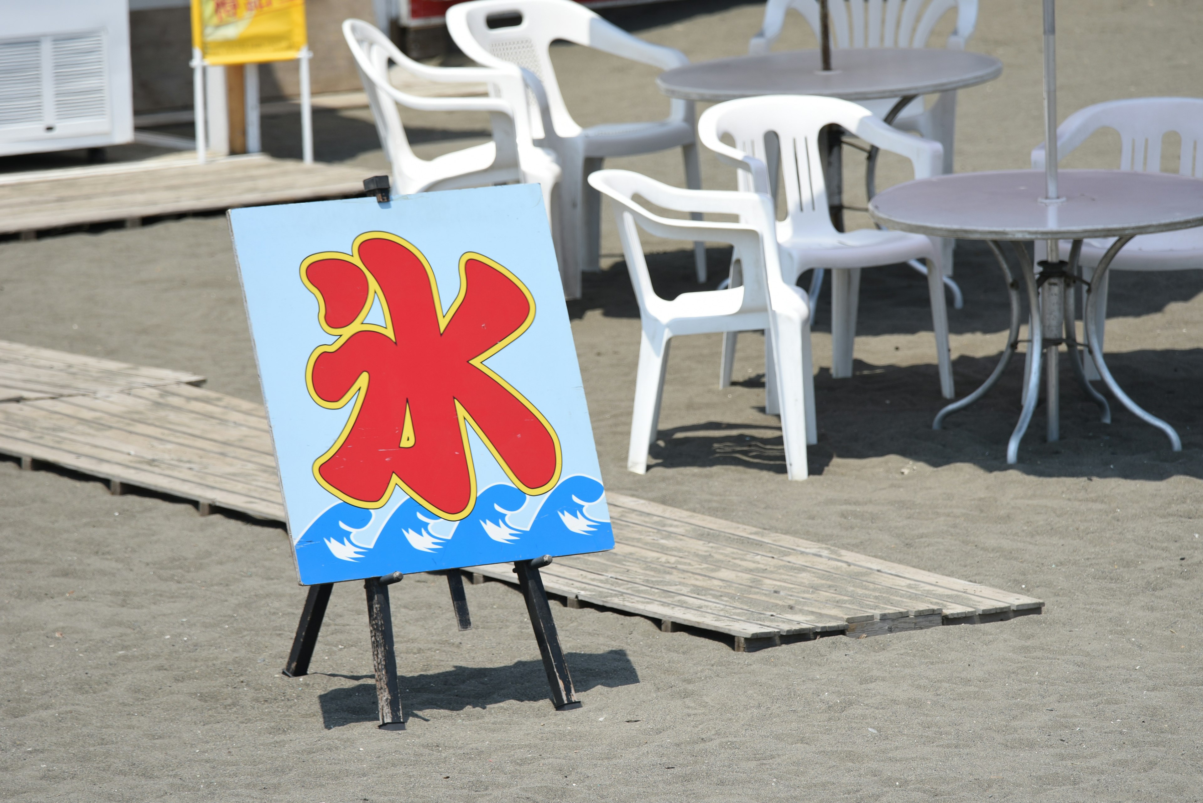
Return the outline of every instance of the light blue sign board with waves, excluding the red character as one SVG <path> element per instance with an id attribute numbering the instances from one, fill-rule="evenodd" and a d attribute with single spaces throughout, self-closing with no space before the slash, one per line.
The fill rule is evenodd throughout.
<path id="1" fill-rule="evenodd" d="M 423 193 L 386 203 L 350 199 L 231 209 L 230 225 L 303 584 L 614 547 L 538 185 Z M 309 396 L 309 354 L 336 338 L 318 323 L 318 301 L 301 282 L 301 262 L 320 252 L 350 253 L 354 240 L 368 231 L 403 237 L 426 256 L 444 312 L 460 291 L 458 264 L 466 252 L 504 265 L 531 290 L 534 321 L 486 365 L 526 396 L 559 437 L 563 471 L 555 489 L 538 497 L 518 491 L 470 427 L 478 504 L 458 522 L 438 519 L 401 489 L 384 507 L 366 510 L 314 479 L 314 461 L 338 438 L 354 401 L 326 409 Z M 368 323 L 384 324 L 378 305 Z"/>

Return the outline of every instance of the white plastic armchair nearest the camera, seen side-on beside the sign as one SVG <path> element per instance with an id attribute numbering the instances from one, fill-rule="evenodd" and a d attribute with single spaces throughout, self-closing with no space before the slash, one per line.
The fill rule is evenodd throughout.
<path id="1" fill-rule="evenodd" d="M 806 479 L 806 444 L 816 443 L 814 384 L 811 367 L 810 308 L 806 295 L 781 278 L 772 236 L 772 199 L 755 193 L 688 190 L 626 170 L 602 170 L 589 184 L 614 202 L 618 236 L 639 301 L 642 337 L 627 468 L 647 471 L 664 392 L 669 343 L 680 335 L 764 330 L 765 409 L 781 415 L 790 479 Z M 739 215 L 739 223 L 664 218 L 635 202 L 676 212 Z M 683 293 L 671 301 L 656 295 L 644 259 L 639 229 L 657 237 L 725 242 L 740 255 L 743 284 L 727 290 Z"/>

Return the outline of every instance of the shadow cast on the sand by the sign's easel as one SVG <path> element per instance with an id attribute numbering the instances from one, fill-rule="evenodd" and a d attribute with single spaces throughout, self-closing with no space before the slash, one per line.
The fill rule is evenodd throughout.
<path id="1" fill-rule="evenodd" d="M 597 686 L 612 689 L 639 683 L 639 673 L 626 650 L 608 653 L 568 653 L 564 655 L 577 692 Z M 326 728 L 377 719 L 375 683 L 372 675 L 338 675 L 350 680 L 368 680 L 355 686 L 332 689 L 318 702 Z M 433 674 L 401 675 L 402 710 L 405 719 L 417 712 L 458 712 L 487 708 L 504 702 L 547 701 L 547 675 L 543 661 L 516 661 L 503 667 L 455 667 Z"/>

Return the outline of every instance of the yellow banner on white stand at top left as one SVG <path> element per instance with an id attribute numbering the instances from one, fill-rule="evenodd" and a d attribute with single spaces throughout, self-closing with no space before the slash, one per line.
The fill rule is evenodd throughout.
<path id="1" fill-rule="evenodd" d="M 192 0 L 192 47 L 208 64 L 286 61 L 307 43 L 304 0 Z"/>

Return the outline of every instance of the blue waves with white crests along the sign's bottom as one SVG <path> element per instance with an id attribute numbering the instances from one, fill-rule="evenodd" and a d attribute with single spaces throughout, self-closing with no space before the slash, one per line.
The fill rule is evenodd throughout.
<path id="1" fill-rule="evenodd" d="M 567 477 L 543 496 L 527 496 L 512 485 L 491 485 L 476 496 L 472 512 L 460 521 L 446 521 L 408 497 L 391 512 L 389 508 L 393 506 L 373 512 L 339 502 L 318 516 L 296 544 L 302 583 L 429 572 L 614 547 L 605 490 L 592 477 Z M 381 526 L 384 516 L 387 519 Z"/>

